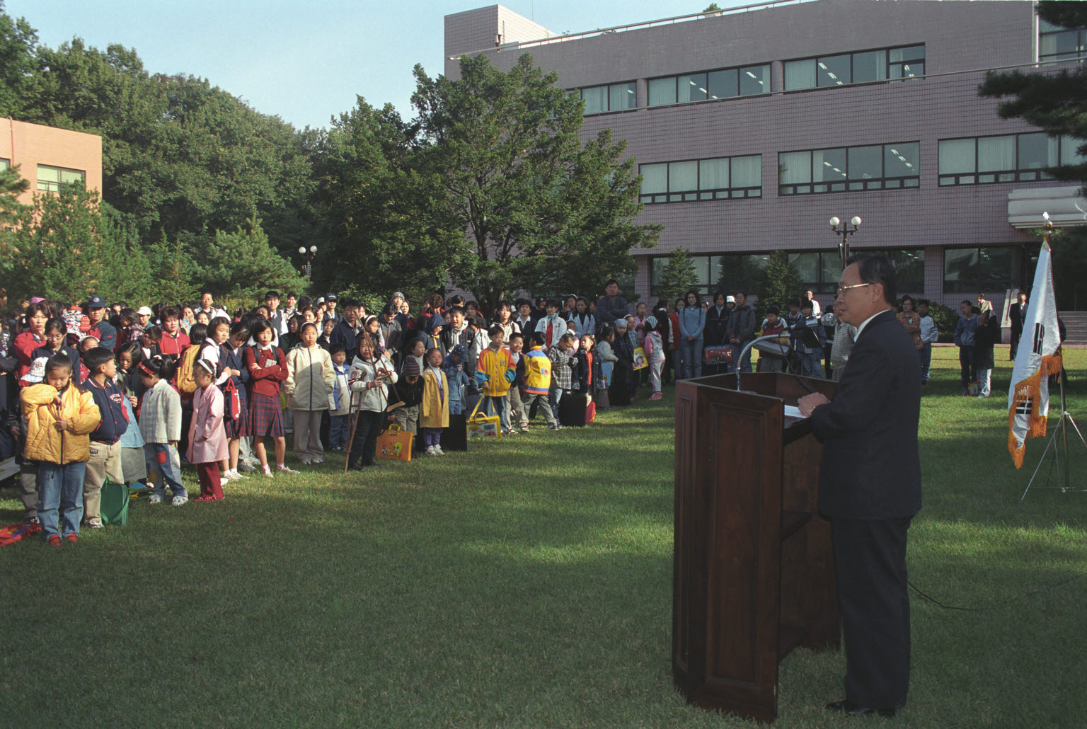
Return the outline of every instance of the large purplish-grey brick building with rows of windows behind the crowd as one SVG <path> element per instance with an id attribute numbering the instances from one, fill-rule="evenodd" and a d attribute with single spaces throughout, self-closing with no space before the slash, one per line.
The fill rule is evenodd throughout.
<path id="1" fill-rule="evenodd" d="M 859 215 L 852 250 L 890 253 L 900 292 L 955 305 L 982 291 L 1001 311 L 1029 285 L 1042 211 L 1084 219 L 1077 188 L 1040 172 L 1078 155 L 1001 120 L 977 86 L 991 68 L 1051 72 L 1084 35 L 1039 27 L 1020 0 L 776 2 L 563 36 L 491 5 L 446 16 L 445 73 L 464 54 L 508 70 L 532 53 L 585 100 L 585 138 L 627 140 L 639 222 L 665 226 L 634 251 L 642 301 L 682 246 L 705 293 L 754 288 L 785 250 L 825 305 L 841 269 L 827 221 Z"/>

